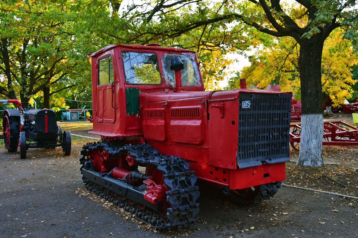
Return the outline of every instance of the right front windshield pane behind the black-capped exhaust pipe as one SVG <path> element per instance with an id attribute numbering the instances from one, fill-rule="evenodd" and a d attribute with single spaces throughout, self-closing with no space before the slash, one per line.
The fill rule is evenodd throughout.
<path id="1" fill-rule="evenodd" d="M 193 86 L 199 84 L 198 65 L 194 61 L 194 57 L 191 56 L 193 56 L 192 53 L 185 53 L 182 55 L 164 54 L 164 56 L 161 58 L 165 81 L 168 82 L 172 87 L 175 87 L 175 76 L 174 70 L 170 70 L 170 65 L 171 59 L 174 57 L 179 57 L 179 59 L 184 64 L 184 69 L 180 71 L 182 73 L 182 85 Z"/>

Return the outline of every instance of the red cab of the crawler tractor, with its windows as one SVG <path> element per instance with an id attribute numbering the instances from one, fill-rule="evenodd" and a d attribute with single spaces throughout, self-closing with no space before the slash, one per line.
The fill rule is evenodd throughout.
<path id="1" fill-rule="evenodd" d="M 142 135 L 139 116 L 142 93 L 204 91 L 193 51 L 159 44 L 110 45 L 88 55 L 88 61 L 92 66 L 93 131 L 89 132 L 92 134 Z M 179 62 L 180 69 L 175 62 Z M 180 71 L 180 83 L 175 81 L 175 71 Z"/>

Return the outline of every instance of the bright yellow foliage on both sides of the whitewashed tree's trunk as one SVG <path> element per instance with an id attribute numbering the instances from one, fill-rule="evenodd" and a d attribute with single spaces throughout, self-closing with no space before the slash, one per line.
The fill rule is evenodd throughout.
<path id="1" fill-rule="evenodd" d="M 351 97 L 352 79 L 350 67 L 358 64 L 357 53 L 349 41 L 337 29 L 324 42 L 322 53 L 322 92 L 332 98 L 333 106 Z M 300 90 L 298 67 L 299 45 L 290 37 L 277 39 L 277 44 L 258 49 L 251 59 L 251 66 L 244 67 L 240 77 L 246 78 L 248 86 L 256 83 L 259 88 L 279 84 L 281 91 Z M 299 98 L 300 99 L 300 98 Z"/>

